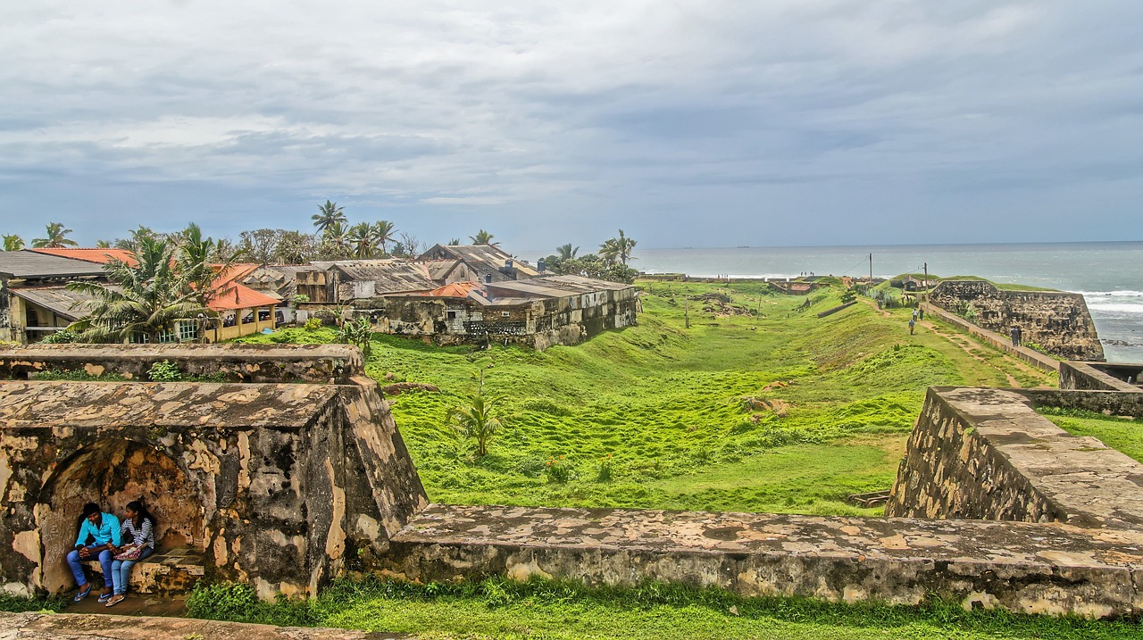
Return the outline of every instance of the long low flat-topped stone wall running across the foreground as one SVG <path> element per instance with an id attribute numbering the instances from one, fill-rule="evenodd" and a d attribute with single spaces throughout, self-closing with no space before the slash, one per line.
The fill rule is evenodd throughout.
<path id="1" fill-rule="evenodd" d="M 431 505 L 392 538 L 409 579 L 645 579 L 744 595 L 1135 616 L 1143 533 L 1063 523 Z"/>

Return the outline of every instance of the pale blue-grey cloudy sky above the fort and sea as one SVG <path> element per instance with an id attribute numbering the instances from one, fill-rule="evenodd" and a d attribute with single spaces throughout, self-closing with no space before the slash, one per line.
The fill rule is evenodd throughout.
<path id="1" fill-rule="evenodd" d="M 0 231 L 1143 240 L 1143 3 L 0 5 Z"/>

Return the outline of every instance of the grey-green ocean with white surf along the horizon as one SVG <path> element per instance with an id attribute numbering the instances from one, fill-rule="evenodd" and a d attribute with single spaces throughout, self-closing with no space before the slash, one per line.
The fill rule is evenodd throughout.
<path id="1" fill-rule="evenodd" d="M 913 245 L 885 247 L 740 247 L 639 249 L 648 273 L 786 278 L 900 273 L 978 275 L 1084 294 L 1109 362 L 1143 362 L 1143 242 Z"/>

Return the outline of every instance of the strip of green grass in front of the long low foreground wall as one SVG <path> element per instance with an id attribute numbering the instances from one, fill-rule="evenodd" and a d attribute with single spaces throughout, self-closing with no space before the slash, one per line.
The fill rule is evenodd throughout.
<path id="1" fill-rule="evenodd" d="M 693 638 L 1137 638 L 1140 625 L 920 607 L 841 605 L 801 598 L 740 598 L 662 583 L 589 589 L 569 582 L 502 578 L 479 583 L 339 582 L 306 602 L 257 602 L 249 586 L 197 589 L 192 616 L 320 625 L 425 639 Z"/>

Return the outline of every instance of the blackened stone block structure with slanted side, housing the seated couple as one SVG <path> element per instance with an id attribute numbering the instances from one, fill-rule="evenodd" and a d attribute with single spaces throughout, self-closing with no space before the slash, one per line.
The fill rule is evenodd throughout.
<path id="1" fill-rule="evenodd" d="M 266 598 L 368 569 L 427 501 L 377 383 L 355 368 L 344 384 L 0 382 L 0 547 L 14 550 L 0 584 L 66 589 L 82 503 L 121 513 L 136 498 L 155 507 L 163 544 L 198 549 L 208 575 Z"/>

